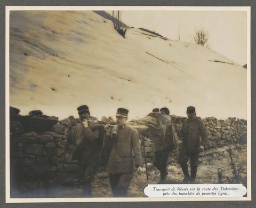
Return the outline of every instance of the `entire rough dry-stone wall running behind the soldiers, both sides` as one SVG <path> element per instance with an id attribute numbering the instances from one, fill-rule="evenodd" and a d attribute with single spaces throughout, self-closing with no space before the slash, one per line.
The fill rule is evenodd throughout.
<path id="1" fill-rule="evenodd" d="M 171 117 L 179 133 L 185 118 Z M 114 124 L 112 118 L 102 117 L 102 121 Z M 217 120 L 208 117 L 202 121 L 209 134 L 206 149 L 246 142 L 247 123 L 243 119 Z M 65 135 L 68 127 L 76 123 L 73 116 L 59 121 L 57 117 L 43 115 L 40 110 L 21 116 L 19 109 L 10 107 L 11 184 L 16 187 L 25 186 L 23 188 L 78 184 L 78 161 L 68 162 L 72 145 Z M 144 144 L 144 148 L 141 148 L 142 156 L 151 162 L 153 144 L 148 138 L 141 139 Z M 178 145 L 180 143 L 178 140 Z"/>

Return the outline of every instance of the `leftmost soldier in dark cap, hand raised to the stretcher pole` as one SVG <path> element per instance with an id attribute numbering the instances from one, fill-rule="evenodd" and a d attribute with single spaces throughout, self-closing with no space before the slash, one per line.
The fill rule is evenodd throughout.
<path id="1" fill-rule="evenodd" d="M 99 155 L 105 134 L 104 126 L 93 121 L 86 105 L 77 108 L 78 123 L 68 131 L 73 142 L 73 159 L 78 159 L 78 173 L 83 186 L 83 196 L 91 197 L 91 183 L 98 169 Z"/>

